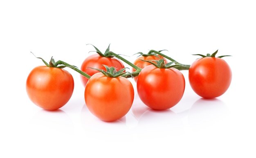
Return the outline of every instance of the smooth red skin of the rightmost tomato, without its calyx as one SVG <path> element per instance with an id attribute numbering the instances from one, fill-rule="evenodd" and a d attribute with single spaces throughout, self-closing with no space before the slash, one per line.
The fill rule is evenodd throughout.
<path id="1" fill-rule="evenodd" d="M 231 69 L 222 58 L 200 58 L 189 68 L 191 88 L 203 98 L 221 96 L 229 88 L 231 79 Z"/>

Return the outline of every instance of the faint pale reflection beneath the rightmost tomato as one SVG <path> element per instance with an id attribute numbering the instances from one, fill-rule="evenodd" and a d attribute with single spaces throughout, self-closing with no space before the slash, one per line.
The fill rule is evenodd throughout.
<path id="1" fill-rule="evenodd" d="M 189 125 L 194 128 L 206 128 L 221 120 L 228 113 L 225 102 L 218 98 L 200 98 L 194 102 L 188 112 Z"/>

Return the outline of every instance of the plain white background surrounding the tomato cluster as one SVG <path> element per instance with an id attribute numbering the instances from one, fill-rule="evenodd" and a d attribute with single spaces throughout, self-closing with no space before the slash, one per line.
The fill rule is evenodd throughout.
<path id="1" fill-rule="evenodd" d="M 244 157 L 256 156 L 256 24 L 253 0 L 1 0 L 0 157 Z M 103 122 L 86 108 L 79 73 L 70 101 L 55 112 L 34 105 L 29 72 L 53 56 L 80 67 L 94 51 L 126 55 L 167 49 L 183 64 L 213 53 L 233 72 L 228 91 L 203 100 L 186 89 L 166 111 L 135 100 L 128 114 Z M 91 52 L 93 53 L 93 52 Z M 132 84 L 135 85 L 133 80 Z"/>

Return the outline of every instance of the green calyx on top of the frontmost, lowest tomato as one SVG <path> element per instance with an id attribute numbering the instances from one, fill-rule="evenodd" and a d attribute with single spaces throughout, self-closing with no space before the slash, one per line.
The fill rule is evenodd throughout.
<path id="1" fill-rule="evenodd" d="M 116 78 L 116 77 L 119 77 L 119 76 L 125 76 L 126 74 L 129 74 L 129 75 L 132 76 L 132 74 L 130 72 L 125 72 L 125 69 L 128 69 L 128 67 L 125 67 L 125 68 L 117 71 L 115 69 L 115 67 L 108 67 L 107 65 L 102 65 L 102 66 L 104 66 L 106 68 L 106 71 L 102 70 L 102 69 L 92 68 L 92 67 L 89 67 L 89 68 L 98 70 L 101 73 L 103 73 L 105 76 L 110 77 L 110 78 Z"/>

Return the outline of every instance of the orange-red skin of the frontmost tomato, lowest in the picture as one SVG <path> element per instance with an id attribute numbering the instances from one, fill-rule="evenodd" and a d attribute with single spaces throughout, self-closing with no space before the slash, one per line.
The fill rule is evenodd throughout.
<path id="1" fill-rule="evenodd" d="M 132 83 L 124 77 L 109 78 L 95 73 L 85 86 L 89 111 L 103 121 L 115 121 L 128 113 L 134 99 Z"/>

